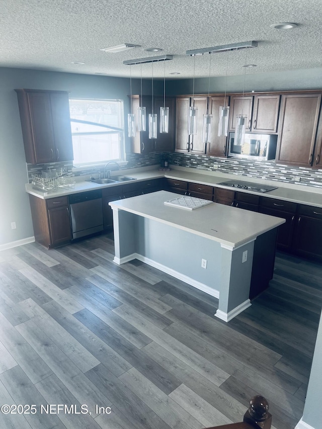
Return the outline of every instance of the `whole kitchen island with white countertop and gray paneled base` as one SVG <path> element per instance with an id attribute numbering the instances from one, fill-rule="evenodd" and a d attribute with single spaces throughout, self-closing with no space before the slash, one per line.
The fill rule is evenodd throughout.
<path id="1" fill-rule="evenodd" d="M 195 210 L 165 204 L 176 197 L 159 191 L 109 203 L 114 262 L 138 259 L 219 298 L 215 315 L 227 322 L 268 286 L 285 220 L 216 203 Z"/>

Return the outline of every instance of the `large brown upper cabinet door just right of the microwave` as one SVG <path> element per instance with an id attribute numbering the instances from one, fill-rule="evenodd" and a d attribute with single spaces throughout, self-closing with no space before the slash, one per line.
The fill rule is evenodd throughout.
<path id="1" fill-rule="evenodd" d="M 276 162 L 311 166 L 320 94 L 283 95 Z"/>

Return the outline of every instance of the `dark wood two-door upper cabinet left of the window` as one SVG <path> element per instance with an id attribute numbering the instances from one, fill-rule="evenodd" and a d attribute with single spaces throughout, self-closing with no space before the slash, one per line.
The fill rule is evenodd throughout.
<path id="1" fill-rule="evenodd" d="M 43 164 L 73 159 L 68 93 L 16 90 L 26 161 Z"/>

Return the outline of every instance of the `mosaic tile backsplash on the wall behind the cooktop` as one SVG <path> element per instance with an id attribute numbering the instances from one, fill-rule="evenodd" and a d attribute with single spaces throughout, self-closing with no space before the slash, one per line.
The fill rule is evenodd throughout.
<path id="1" fill-rule="evenodd" d="M 246 159 L 215 158 L 192 153 L 168 153 L 170 164 L 207 171 L 233 174 L 249 178 L 267 179 L 276 182 L 322 188 L 322 170 L 277 164 L 274 161 L 253 161 Z M 299 178 L 300 182 L 295 181 Z"/>

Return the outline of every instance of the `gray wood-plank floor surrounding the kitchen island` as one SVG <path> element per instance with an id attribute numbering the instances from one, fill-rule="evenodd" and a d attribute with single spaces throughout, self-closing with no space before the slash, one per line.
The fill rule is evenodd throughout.
<path id="1" fill-rule="evenodd" d="M 0 252 L 0 403 L 37 411 L 0 413 L 0 427 L 198 429 L 241 421 L 261 394 L 273 426 L 294 428 L 320 264 L 278 253 L 269 289 L 225 323 L 217 299 L 139 261 L 117 266 L 113 251 L 102 235 Z"/>

